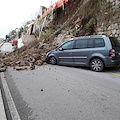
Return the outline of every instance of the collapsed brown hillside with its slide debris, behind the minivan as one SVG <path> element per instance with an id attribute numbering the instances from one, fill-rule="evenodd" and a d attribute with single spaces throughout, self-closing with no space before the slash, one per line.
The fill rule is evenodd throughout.
<path id="1" fill-rule="evenodd" d="M 119 0 L 69 0 L 30 28 L 32 42 L 3 56 L 6 66 L 45 64 L 45 55 L 62 42 L 78 36 L 105 34 L 120 39 Z M 31 62 L 32 61 L 32 62 Z"/>

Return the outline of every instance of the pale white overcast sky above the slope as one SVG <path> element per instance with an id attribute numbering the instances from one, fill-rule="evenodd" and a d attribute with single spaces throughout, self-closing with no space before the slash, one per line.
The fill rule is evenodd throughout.
<path id="1" fill-rule="evenodd" d="M 35 18 L 40 6 L 49 7 L 57 0 L 0 0 L 0 38 Z"/>

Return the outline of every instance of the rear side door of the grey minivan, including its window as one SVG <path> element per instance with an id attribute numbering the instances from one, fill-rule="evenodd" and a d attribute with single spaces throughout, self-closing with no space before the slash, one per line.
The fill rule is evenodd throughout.
<path id="1" fill-rule="evenodd" d="M 90 54 L 93 52 L 93 39 L 79 39 L 75 42 L 73 52 L 74 65 L 86 66 Z"/>

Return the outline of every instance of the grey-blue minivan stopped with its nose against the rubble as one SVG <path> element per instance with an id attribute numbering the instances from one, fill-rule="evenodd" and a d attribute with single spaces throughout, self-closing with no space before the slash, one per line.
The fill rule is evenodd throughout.
<path id="1" fill-rule="evenodd" d="M 73 38 L 47 53 L 50 64 L 87 66 L 93 71 L 120 66 L 120 41 L 103 35 Z"/>

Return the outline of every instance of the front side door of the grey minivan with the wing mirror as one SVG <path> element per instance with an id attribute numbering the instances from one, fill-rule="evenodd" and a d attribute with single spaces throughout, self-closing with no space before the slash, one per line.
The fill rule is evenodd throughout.
<path id="1" fill-rule="evenodd" d="M 68 41 L 58 48 L 56 56 L 59 64 L 73 64 L 74 43 L 74 40 Z"/>

